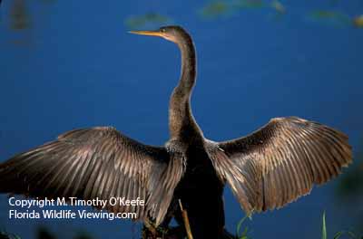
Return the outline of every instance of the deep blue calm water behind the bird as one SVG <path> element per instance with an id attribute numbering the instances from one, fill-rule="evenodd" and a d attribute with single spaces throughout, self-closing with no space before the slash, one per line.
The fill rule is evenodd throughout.
<path id="1" fill-rule="evenodd" d="M 112 125 L 147 144 L 168 139 L 178 49 L 129 34 L 123 24 L 147 12 L 170 16 L 194 38 L 198 81 L 192 109 L 207 138 L 237 138 L 270 118 L 295 115 L 344 131 L 357 152 L 363 131 L 363 29 L 311 20 L 308 13 L 327 8 L 363 14 L 360 0 L 284 1 L 288 12 L 279 20 L 270 11 L 242 10 L 209 21 L 198 15 L 207 3 L 199 1 L 29 1 L 32 28 L 23 32 L 9 29 L 11 2 L 0 6 L 1 160 L 91 126 Z M 17 39 L 25 44 L 13 43 Z M 323 210 L 330 235 L 351 228 L 355 212 L 339 205 L 337 183 L 254 215 L 251 235 L 319 238 Z M 234 232 L 244 215 L 226 189 L 227 228 Z M 0 199 L 0 227 L 23 238 L 34 238 L 37 225 L 50 226 L 62 238 L 80 228 L 96 238 L 129 238 L 140 227 L 125 221 L 9 220 L 7 200 Z"/>

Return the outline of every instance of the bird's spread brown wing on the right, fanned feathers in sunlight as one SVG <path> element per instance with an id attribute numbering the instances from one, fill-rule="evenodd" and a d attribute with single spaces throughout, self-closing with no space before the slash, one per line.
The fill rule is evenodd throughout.
<path id="1" fill-rule="evenodd" d="M 309 194 L 314 184 L 337 177 L 352 160 L 347 136 L 295 117 L 271 119 L 249 136 L 218 143 L 218 147 L 221 157 L 211 159 L 229 160 L 235 167 L 230 175 L 233 180 L 225 178 L 232 190 L 244 189 L 233 191 L 247 213 L 279 208 Z M 220 166 L 216 168 L 220 175 L 231 171 L 221 168 L 221 162 L 213 164 Z M 238 173 L 242 179 L 236 177 Z"/>

